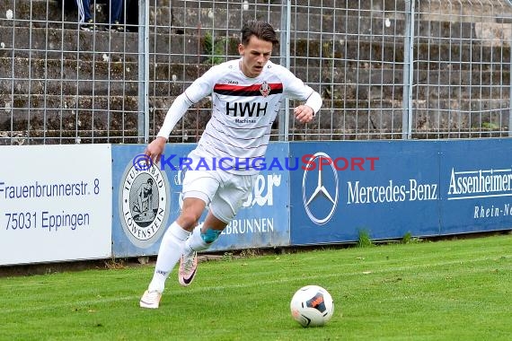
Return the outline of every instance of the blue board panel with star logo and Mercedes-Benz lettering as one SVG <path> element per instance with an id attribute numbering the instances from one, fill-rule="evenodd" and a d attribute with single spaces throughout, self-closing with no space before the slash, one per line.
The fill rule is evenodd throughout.
<path id="1" fill-rule="evenodd" d="M 290 144 L 294 245 L 439 233 L 439 158 L 428 141 Z"/>

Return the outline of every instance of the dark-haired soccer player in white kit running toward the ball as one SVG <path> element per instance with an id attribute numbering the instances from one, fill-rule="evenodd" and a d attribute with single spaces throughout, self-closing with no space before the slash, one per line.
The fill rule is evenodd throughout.
<path id="1" fill-rule="evenodd" d="M 158 308 L 167 276 L 180 260 L 179 282 L 189 285 L 198 266 L 197 252 L 207 249 L 234 218 L 252 191 L 258 170 L 254 158 L 265 155 L 270 128 L 283 97 L 305 102 L 294 109 L 301 123 L 311 122 L 322 106 L 322 97 L 287 68 L 269 58 L 278 44 L 267 22 L 243 25 L 240 58 L 212 66 L 172 102 L 158 135 L 146 147 L 146 155 L 158 162 L 167 138 L 187 109 L 211 95 L 212 117 L 183 179 L 180 216 L 163 234 L 154 275 L 140 300 L 143 308 Z M 223 164 L 216 164 L 223 159 Z M 197 167 L 201 162 L 209 168 Z M 215 168 L 215 170 L 214 170 Z M 199 218 L 209 205 L 205 221 Z"/>

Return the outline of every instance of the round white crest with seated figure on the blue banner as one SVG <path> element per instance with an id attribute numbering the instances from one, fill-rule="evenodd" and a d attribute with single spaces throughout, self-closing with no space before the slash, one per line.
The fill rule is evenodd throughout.
<path id="1" fill-rule="evenodd" d="M 169 181 L 157 166 L 130 162 L 119 186 L 119 219 L 128 239 L 148 248 L 165 232 L 169 218 Z"/>

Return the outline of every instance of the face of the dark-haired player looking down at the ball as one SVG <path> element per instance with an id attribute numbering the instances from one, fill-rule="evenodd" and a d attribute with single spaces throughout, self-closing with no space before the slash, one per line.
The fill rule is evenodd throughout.
<path id="1" fill-rule="evenodd" d="M 240 67 L 247 77 L 257 77 L 267 64 L 272 53 L 272 42 L 252 36 L 247 45 L 240 44 L 238 52 L 242 56 Z"/>

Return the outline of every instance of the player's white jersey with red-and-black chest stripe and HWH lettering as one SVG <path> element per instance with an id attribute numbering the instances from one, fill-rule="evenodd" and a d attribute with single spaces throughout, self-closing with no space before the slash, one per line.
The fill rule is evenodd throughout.
<path id="1" fill-rule="evenodd" d="M 212 118 L 199 139 L 199 150 L 216 159 L 264 157 L 283 98 L 307 101 L 313 93 L 320 97 L 283 66 L 268 61 L 260 75 L 250 78 L 240 61 L 211 67 L 184 92 L 190 105 L 212 96 Z M 313 101 L 313 111 L 320 105 Z"/>

